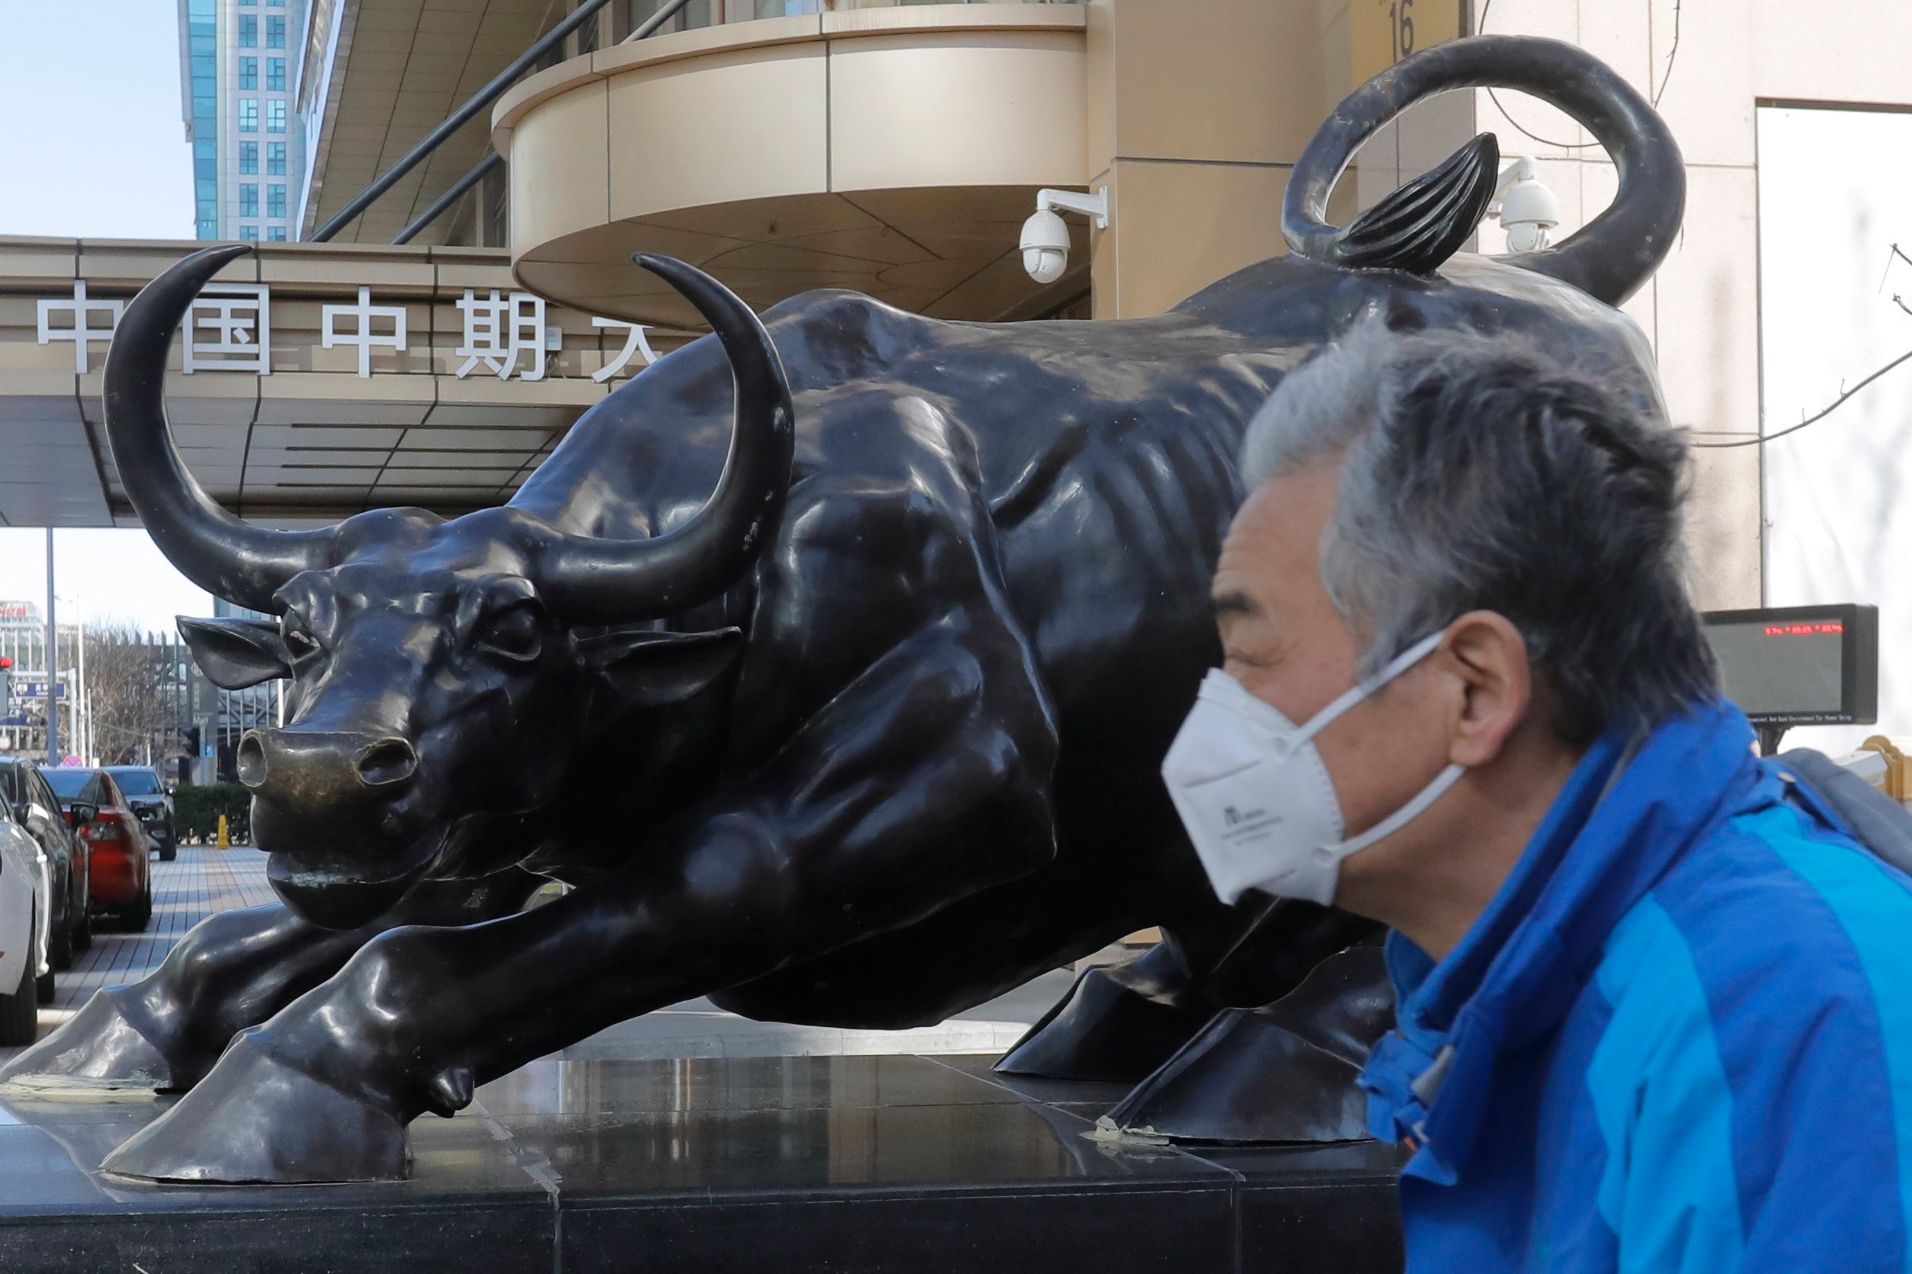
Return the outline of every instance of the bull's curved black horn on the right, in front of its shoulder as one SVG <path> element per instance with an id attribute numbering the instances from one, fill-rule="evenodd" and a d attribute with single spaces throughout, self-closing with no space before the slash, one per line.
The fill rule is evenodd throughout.
<path id="1" fill-rule="evenodd" d="M 551 541 L 541 587 L 553 610 L 574 624 L 679 614 L 723 593 L 763 551 L 790 494 L 795 411 L 771 333 L 696 266 L 648 253 L 633 260 L 683 293 L 723 342 L 736 384 L 730 455 L 709 501 L 669 534 Z"/>

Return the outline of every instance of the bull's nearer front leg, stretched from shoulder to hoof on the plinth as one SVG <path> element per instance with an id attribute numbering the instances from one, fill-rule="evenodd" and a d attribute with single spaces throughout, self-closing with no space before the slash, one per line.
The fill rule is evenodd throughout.
<path id="1" fill-rule="evenodd" d="M 902 643 L 619 874 L 493 924 L 373 939 L 105 1167 L 396 1178 L 405 1125 L 474 1085 L 1036 868 L 1055 851 L 1055 744 L 1029 668 L 1019 643 Z"/>

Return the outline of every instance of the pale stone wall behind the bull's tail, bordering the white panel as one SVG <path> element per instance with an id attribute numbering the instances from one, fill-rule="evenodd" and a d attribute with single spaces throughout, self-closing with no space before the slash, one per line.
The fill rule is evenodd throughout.
<path id="1" fill-rule="evenodd" d="M 1755 107 L 1771 101 L 1912 103 L 1912 6 L 1879 0 L 1493 0 L 1489 33 L 1551 34 L 1598 54 L 1648 96 L 1686 157 L 1686 228 L 1660 274 L 1627 304 L 1660 358 L 1673 423 L 1696 442 L 1759 432 L 1759 170 Z M 1669 71 L 1671 65 L 1671 71 Z M 1568 214 L 1597 216 L 1612 165 L 1556 111 L 1518 94 L 1476 94 L 1480 128 L 1505 153 L 1541 159 Z M 1505 107 L 1505 109 L 1503 109 Z M 1891 163 L 1891 159 L 1881 157 Z M 1482 233 L 1497 251 L 1497 231 Z M 1811 253 L 1811 243 L 1797 245 Z M 1830 398 L 1828 386 L 1828 398 Z M 1761 603 L 1761 448 L 1696 451 L 1690 528 L 1704 606 Z"/>

